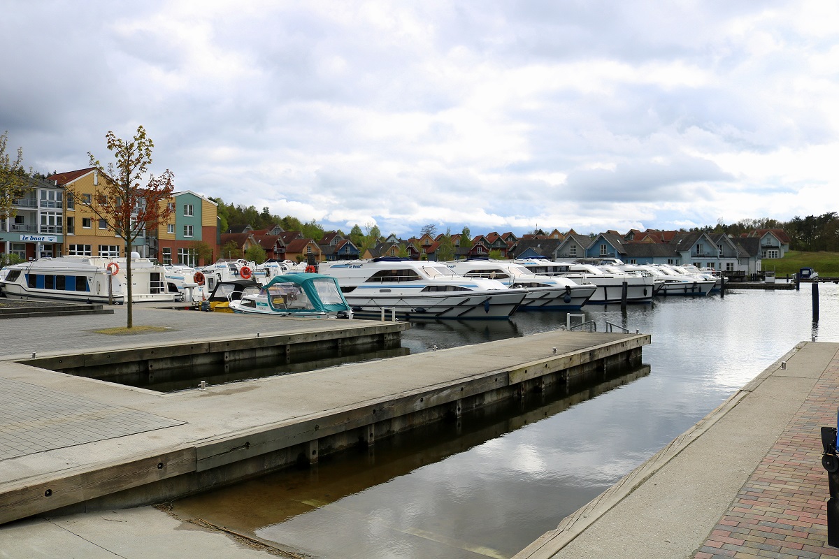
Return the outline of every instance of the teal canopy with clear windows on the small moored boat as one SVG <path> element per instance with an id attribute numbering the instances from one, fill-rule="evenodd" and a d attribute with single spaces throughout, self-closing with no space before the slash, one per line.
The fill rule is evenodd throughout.
<path id="1" fill-rule="evenodd" d="M 350 305 L 334 277 L 298 273 L 275 276 L 262 288 L 268 305 L 278 313 L 340 313 Z"/>

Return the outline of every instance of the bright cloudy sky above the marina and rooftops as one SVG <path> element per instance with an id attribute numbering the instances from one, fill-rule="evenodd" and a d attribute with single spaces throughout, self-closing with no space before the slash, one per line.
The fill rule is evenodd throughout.
<path id="1" fill-rule="evenodd" d="M 154 140 L 177 190 L 348 232 L 839 210 L 839 4 L 0 0 L 0 133 L 44 173 Z"/>

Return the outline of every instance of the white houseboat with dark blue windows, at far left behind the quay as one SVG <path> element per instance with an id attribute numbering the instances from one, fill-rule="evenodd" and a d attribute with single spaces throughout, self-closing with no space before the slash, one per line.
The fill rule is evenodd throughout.
<path id="1" fill-rule="evenodd" d="M 134 303 L 174 302 L 180 292 L 166 281 L 166 270 L 148 258 L 131 253 Z M 0 280 L 8 298 L 117 303 L 128 300 L 125 258 L 59 256 L 14 264 Z"/>

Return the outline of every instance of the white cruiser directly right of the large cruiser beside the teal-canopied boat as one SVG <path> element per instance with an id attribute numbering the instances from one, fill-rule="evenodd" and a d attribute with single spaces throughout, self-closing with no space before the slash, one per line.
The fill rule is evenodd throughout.
<path id="1" fill-rule="evenodd" d="M 508 287 L 526 289 L 528 294 L 519 310 L 578 310 L 597 290 L 594 285 L 580 285 L 566 277 L 537 276 L 512 261 L 475 259 L 443 263 L 463 277 L 484 277 Z"/>

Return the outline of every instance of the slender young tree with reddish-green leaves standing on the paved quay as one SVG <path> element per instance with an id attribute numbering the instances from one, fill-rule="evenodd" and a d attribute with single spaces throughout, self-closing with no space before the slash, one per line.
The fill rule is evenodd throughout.
<path id="1" fill-rule="evenodd" d="M 75 189 L 68 188 L 76 203 L 85 207 L 100 220 L 105 220 L 108 227 L 125 243 L 125 276 L 128 284 L 128 328 L 133 328 L 133 301 L 131 287 L 131 247 L 145 231 L 154 230 L 159 222 L 165 221 L 172 213 L 169 197 L 175 190 L 175 174 L 166 169 L 159 177 L 149 173 L 152 163 L 154 142 L 146 134 L 142 125 L 130 140 L 123 140 L 111 131 L 105 135 L 107 148 L 112 152 L 114 161 L 102 166 L 93 153 L 91 167 L 105 177 L 96 189 L 90 201 L 78 195 Z"/>

